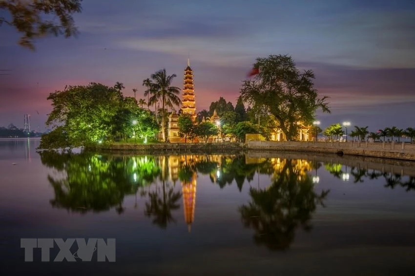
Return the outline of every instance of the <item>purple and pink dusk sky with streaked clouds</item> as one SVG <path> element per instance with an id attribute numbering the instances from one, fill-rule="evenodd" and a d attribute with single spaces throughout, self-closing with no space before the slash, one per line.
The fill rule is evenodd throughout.
<path id="1" fill-rule="evenodd" d="M 36 51 L 0 26 L 0 126 L 43 131 L 49 93 L 65 85 L 123 82 L 144 98 L 143 79 L 160 69 L 183 88 L 187 58 L 197 111 L 219 97 L 235 104 L 258 57 L 290 55 L 312 69 L 331 114 L 370 131 L 415 127 L 415 0 L 84 0 L 76 38 L 44 38 Z M 4 11 L 0 16 L 5 15 Z M 5 15 L 7 16 L 7 15 Z M 38 114 L 39 113 L 39 114 Z"/>

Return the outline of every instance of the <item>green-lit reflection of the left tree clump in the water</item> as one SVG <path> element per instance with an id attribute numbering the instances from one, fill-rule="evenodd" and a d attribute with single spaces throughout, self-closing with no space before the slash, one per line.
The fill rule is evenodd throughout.
<path id="1" fill-rule="evenodd" d="M 160 173 L 154 158 L 53 151 L 40 155 L 42 164 L 62 173 L 60 177 L 48 175 L 55 192 L 51 205 L 78 213 L 101 212 L 115 206 L 122 213 L 124 197 L 151 184 Z"/>

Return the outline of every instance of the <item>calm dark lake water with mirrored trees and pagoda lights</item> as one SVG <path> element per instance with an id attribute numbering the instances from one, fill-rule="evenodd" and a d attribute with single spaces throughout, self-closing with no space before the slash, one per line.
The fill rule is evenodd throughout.
<path id="1" fill-rule="evenodd" d="M 413 163 L 38 145 L 0 140 L 0 275 L 415 274 Z M 116 261 L 25 262 L 21 238 L 115 238 Z"/>

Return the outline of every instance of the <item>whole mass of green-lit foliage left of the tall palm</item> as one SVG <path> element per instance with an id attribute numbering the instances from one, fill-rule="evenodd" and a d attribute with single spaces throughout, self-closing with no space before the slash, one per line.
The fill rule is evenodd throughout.
<path id="1" fill-rule="evenodd" d="M 115 87 L 93 82 L 67 86 L 47 99 L 52 100 L 53 110 L 46 125 L 54 130 L 42 137 L 40 148 L 79 147 L 117 136 L 125 140 L 134 132 L 139 137 L 153 137 L 159 130 L 148 111 L 139 108 L 134 98 L 124 98 Z"/>

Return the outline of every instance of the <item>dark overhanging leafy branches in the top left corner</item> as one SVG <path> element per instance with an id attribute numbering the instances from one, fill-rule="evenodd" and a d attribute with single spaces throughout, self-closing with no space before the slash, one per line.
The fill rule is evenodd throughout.
<path id="1" fill-rule="evenodd" d="M 19 44 L 35 50 L 34 40 L 53 35 L 69 38 L 77 34 L 72 14 L 80 13 L 82 0 L 1 0 L 0 11 L 8 18 L 0 17 L 0 26 L 15 27 L 22 34 Z M 4 15 L 4 13 L 2 13 Z M 49 19 L 44 19 L 49 18 Z M 50 20 L 53 18 L 52 20 Z M 59 21 L 55 21 L 54 19 Z"/>

